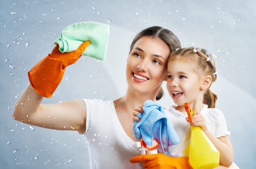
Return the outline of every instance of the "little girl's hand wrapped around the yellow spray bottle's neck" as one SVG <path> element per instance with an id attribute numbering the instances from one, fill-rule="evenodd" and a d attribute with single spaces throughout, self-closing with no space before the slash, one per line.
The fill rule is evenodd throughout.
<path id="1" fill-rule="evenodd" d="M 200 113 L 200 111 L 196 108 L 194 111 L 194 114 L 192 116 L 193 123 L 190 123 L 192 126 L 200 126 L 201 129 L 205 132 L 207 131 L 207 125 L 204 119 L 204 115 Z M 187 122 L 189 122 L 188 117 L 186 117 Z"/>

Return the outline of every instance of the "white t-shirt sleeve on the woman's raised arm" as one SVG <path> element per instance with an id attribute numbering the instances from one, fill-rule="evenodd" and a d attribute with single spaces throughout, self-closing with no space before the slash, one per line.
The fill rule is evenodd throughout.
<path id="1" fill-rule="evenodd" d="M 99 107 L 102 104 L 102 100 L 97 99 L 83 99 L 86 106 L 86 130 L 84 135 L 92 128 L 95 118 L 99 115 Z"/>

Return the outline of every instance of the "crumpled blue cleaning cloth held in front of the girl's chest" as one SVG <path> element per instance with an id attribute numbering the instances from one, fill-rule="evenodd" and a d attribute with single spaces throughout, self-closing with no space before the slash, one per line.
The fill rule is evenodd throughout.
<path id="1" fill-rule="evenodd" d="M 179 137 L 167 119 L 163 107 L 152 100 L 146 100 L 143 110 L 144 113 L 137 115 L 140 121 L 135 121 L 133 124 L 135 138 L 143 138 L 143 141 L 150 146 L 155 138 L 161 145 L 161 147 L 157 147 L 157 151 L 169 155 L 168 147 L 178 144 Z"/>

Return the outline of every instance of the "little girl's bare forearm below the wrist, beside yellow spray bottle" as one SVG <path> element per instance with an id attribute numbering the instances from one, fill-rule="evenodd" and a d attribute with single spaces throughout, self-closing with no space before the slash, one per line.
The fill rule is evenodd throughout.
<path id="1" fill-rule="evenodd" d="M 220 152 L 220 165 L 229 167 L 233 162 L 232 149 L 227 144 L 216 138 L 209 130 L 205 131 L 204 133 L 210 139 L 216 149 Z"/>

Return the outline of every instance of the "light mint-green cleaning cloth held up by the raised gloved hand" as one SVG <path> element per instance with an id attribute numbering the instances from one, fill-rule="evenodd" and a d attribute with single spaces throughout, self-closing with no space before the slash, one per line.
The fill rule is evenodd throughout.
<path id="1" fill-rule="evenodd" d="M 98 22 L 79 22 L 68 25 L 60 33 L 54 44 L 59 44 L 60 52 L 75 51 L 84 41 L 90 44 L 84 50 L 84 56 L 104 60 L 108 47 L 109 25 Z"/>

